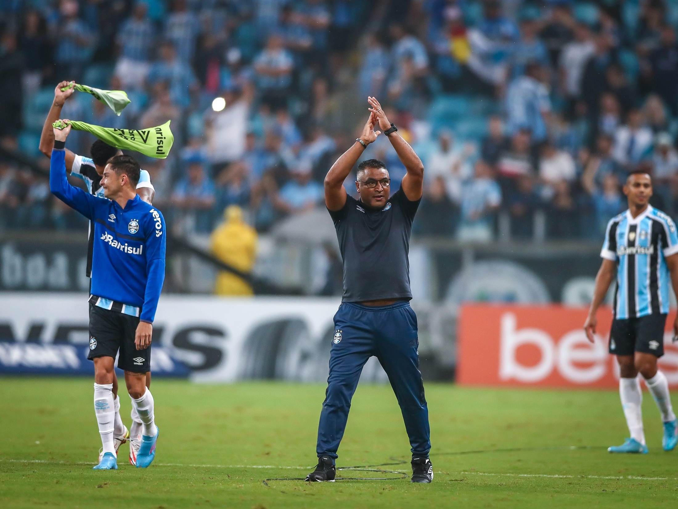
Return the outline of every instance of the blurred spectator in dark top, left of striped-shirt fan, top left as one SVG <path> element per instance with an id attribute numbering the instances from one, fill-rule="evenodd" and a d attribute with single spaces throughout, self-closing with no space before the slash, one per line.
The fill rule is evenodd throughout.
<path id="1" fill-rule="evenodd" d="M 39 12 L 31 10 L 26 13 L 19 47 L 24 57 L 23 92 L 26 97 L 33 97 L 39 90 L 43 77 L 53 72 L 47 24 Z"/>

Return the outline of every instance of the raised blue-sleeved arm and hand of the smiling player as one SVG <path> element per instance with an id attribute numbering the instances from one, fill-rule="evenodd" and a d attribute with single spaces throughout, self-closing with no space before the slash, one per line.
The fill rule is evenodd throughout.
<path id="1" fill-rule="evenodd" d="M 64 120 L 68 122 L 68 120 Z M 71 132 L 71 124 L 63 129 L 53 128 L 54 130 L 54 149 L 49 162 L 49 190 L 66 205 L 75 208 L 87 219 L 94 219 L 94 202 L 97 197 L 85 193 L 79 187 L 72 186 L 66 178 L 65 156 L 66 138 Z"/>

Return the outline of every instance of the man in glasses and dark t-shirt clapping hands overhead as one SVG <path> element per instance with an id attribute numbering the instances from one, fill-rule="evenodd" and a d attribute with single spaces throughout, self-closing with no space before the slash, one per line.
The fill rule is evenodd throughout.
<path id="1" fill-rule="evenodd" d="M 389 123 L 374 97 L 370 119 L 353 146 L 325 176 L 325 205 L 332 216 L 344 265 L 344 295 L 334 316 L 330 377 L 318 426 L 315 471 L 308 481 L 332 481 L 337 450 L 360 373 L 371 356 L 379 359 L 400 405 L 412 446 L 412 482 L 431 483 L 431 440 L 424 383 L 419 371 L 417 317 L 410 307 L 412 221 L 422 197 L 424 166 Z M 346 194 L 344 180 L 380 131 L 388 136 L 407 169 L 400 189 L 389 197 L 391 179 L 384 163 L 358 166 L 359 200 Z"/>

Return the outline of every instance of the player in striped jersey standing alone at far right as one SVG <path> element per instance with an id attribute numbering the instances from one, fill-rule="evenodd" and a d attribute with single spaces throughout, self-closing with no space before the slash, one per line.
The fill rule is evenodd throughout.
<path id="1" fill-rule="evenodd" d="M 669 383 L 657 369 L 657 359 L 664 355 L 669 288 L 673 286 L 678 294 L 678 234 L 673 220 L 649 204 L 652 196 L 649 174 L 640 170 L 631 172 L 624 194 L 629 209 L 607 223 L 600 253 L 603 263 L 595 279 L 584 331 L 593 343 L 598 322 L 596 312 L 616 276 L 610 354 L 616 355 L 619 363 L 619 395 L 631 438 L 607 451 L 647 454 L 638 373 L 643 375 L 662 415 L 662 447 L 664 451 L 671 451 L 676 447 L 678 421 L 671 408 Z M 678 334 L 678 318 L 673 331 Z"/>

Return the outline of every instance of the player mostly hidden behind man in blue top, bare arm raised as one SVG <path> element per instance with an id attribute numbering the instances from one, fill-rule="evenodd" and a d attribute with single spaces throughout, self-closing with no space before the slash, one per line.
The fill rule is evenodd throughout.
<path id="1" fill-rule="evenodd" d="M 47 113 L 47 118 L 45 119 L 45 124 L 43 125 L 43 130 L 40 135 L 40 151 L 47 157 L 52 157 L 52 148 L 54 147 L 54 128 L 52 127 L 52 124 L 60 118 L 64 103 L 73 95 L 73 92 L 75 92 L 75 88 L 61 90 L 68 85 L 68 81 L 62 81 L 54 89 L 54 101 L 52 101 L 52 107 L 49 109 L 49 113 Z M 87 191 L 89 191 L 89 193 L 104 197 L 104 189 L 101 187 L 101 177 L 104 173 L 104 166 L 106 166 L 106 161 L 111 159 L 111 157 L 122 155 L 122 151 L 115 147 L 111 147 L 111 145 L 104 143 L 102 140 L 96 140 L 92 143 L 92 148 L 89 149 L 89 153 L 92 155 L 91 159 L 89 157 L 77 155 L 66 149 L 66 172 L 70 172 L 71 175 L 81 178 L 87 186 Z M 144 200 L 144 202 L 153 204 L 155 189 L 153 188 L 153 184 L 151 184 L 151 176 L 146 170 L 141 170 L 139 183 L 136 185 L 136 193 Z M 93 246 L 94 223 L 90 221 L 89 240 L 87 243 L 87 269 L 85 272 L 87 278 L 89 278 L 92 273 Z M 151 371 L 146 373 L 146 387 L 149 389 L 151 388 Z M 123 424 L 120 417 L 118 378 L 115 375 L 115 371 L 113 372 L 113 396 L 115 398 L 115 431 L 113 432 L 115 452 L 117 453 L 120 446 L 127 441 L 127 438 L 129 438 L 129 463 L 134 465 L 136 453 L 141 445 L 142 422 L 139 416 L 136 415 L 134 407 L 132 407 L 132 428 L 127 430 L 127 427 Z M 101 451 L 99 454 L 99 461 L 101 461 L 103 454 L 103 451 Z"/>

